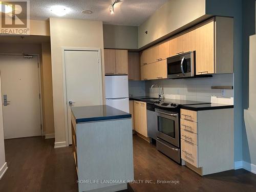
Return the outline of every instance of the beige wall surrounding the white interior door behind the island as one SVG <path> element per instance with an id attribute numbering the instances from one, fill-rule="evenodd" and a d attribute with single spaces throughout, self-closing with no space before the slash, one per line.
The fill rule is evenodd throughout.
<path id="1" fill-rule="evenodd" d="M 79 19 L 50 18 L 52 85 L 55 144 L 65 146 L 65 108 L 63 98 L 61 47 L 100 48 L 104 74 L 102 22 Z M 104 89 L 104 78 L 102 78 Z M 102 91 L 105 93 L 105 91 Z M 103 95 L 104 98 L 104 95 Z"/>

